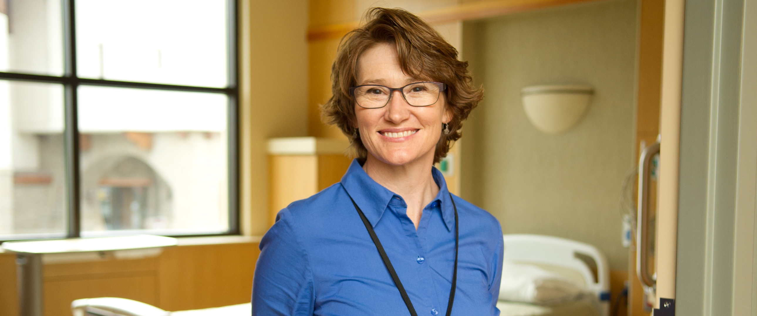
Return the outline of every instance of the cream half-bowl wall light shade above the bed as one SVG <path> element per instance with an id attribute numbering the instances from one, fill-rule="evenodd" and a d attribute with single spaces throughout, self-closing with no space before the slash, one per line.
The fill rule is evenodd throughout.
<path id="1" fill-rule="evenodd" d="M 594 89 L 587 85 L 531 85 L 521 92 L 531 123 L 541 132 L 559 134 L 581 120 Z"/>

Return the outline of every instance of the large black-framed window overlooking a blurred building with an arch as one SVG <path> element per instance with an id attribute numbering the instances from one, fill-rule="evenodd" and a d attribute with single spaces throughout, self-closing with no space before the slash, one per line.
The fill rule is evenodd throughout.
<path id="1" fill-rule="evenodd" d="M 234 0 L 0 0 L 0 240 L 238 234 Z"/>

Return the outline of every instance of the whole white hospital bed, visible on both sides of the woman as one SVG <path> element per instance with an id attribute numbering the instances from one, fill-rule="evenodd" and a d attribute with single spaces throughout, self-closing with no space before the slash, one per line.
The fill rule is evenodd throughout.
<path id="1" fill-rule="evenodd" d="M 559 237 L 503 236 L 501 316 L 609 316 L 609 270 L 594 246 Z M 77 299 L 74 316 L 248 316 L 250 303 L 164 311 L 131 299 Z"/>

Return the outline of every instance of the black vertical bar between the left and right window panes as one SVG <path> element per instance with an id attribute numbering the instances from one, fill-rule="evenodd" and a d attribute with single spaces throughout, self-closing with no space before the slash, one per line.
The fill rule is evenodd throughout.
<path id="1" fill-rule="evenodd" d="M 64 147 L 66 168 L 66 193 L 67 193 L 67 237 L 79 237 L 81 234 L 81 208 L 79 192 L 79 125 L 76 106 L 77 88 L 76 79 L 76 12 L 74 0 L 63 0 L 63 23 L 64 23 L 64 76 L 69 78 L 64 85 Z"/>

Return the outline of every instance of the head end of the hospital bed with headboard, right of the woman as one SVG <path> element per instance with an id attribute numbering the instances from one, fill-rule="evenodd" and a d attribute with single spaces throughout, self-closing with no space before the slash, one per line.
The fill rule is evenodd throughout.
<path id="1" fill-rule="evenodd" d="M 503 239 L 502 316 L 609 316 L 609 267 L 597 247 L 544 235 Z"/>

